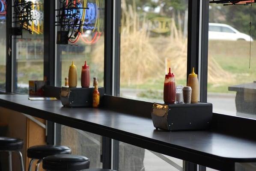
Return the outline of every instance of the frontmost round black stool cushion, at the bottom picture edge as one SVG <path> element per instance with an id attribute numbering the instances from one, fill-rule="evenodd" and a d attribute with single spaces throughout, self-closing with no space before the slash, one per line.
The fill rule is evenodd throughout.
<path id="1" fill-rule="evenodd" d="M 43 159 L 43 168 L 48 171 L 79 171 L 89 168 L 90 161 L 85 156 L 57 154 Z"/>

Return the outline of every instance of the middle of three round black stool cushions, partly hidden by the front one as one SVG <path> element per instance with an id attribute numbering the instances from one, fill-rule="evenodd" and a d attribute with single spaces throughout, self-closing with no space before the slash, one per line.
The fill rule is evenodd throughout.
<path id="1" fill-rule="evenodd" d="M 31 159 L 43 159 L 55 154 L 71 154 L 71 149 L 57 145 L 36 145 L 27 149 L 27 157 Z"/>

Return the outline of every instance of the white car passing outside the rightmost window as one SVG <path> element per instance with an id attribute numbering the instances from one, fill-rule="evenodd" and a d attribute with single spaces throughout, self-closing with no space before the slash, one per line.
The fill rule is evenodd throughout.
<path id="1" fill-rule="evenodd" d="M 209 23 L 209 40 L 253 41 L 253 38 L 227 24 Z"/>

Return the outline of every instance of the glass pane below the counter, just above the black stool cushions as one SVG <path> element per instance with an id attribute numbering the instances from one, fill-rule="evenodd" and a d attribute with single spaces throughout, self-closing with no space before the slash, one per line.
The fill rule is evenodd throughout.
<path id="1" fill-rule="evenodd" d="M 90 159 L 90 168 L 102 168 L 101 136 L 61 125 L 60 145 L 71 148 L 72 154 Z"/>

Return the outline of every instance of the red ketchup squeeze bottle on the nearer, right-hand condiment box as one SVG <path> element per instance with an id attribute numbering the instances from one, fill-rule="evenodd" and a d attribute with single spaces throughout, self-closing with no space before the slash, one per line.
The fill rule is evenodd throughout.
<path id="1" fill-rule="evenodd" d="M 164 103 L 174 104 L 176 97 L 176 87 L 175 87 L 175 76 L 171 73 L 171 68 L 169 68 L 169 73 L 165 75 L 164 80 Z"/>

